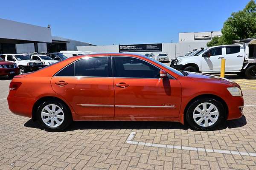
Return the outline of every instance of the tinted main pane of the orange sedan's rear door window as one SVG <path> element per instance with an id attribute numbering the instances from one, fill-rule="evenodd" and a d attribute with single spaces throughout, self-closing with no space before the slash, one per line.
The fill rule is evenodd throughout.
<path id="1" fill-rule="evenodd" d="M 108 57 L 80 59 L 75 62 L 75 76 L 109 77 Z"/>

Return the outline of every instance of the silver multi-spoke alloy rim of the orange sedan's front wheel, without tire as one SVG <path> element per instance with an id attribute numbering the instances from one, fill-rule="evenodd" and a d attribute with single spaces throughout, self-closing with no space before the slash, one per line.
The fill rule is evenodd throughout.
<path id="1" fill-rule="evenodd" d="M 218 108 L 209 102 L 204 102 L 195 107 L 193 119 L 201 127 L 209 127 L 217 122 L 219 116 Z"/>

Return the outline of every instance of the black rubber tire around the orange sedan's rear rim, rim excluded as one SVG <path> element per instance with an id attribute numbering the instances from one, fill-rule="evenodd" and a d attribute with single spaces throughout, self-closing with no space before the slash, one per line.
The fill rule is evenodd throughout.
<path id="1" fill-rule="evenodd" d="M 48 125 L 46 125 L 42 118 L 41 118 L 41 111 L 43 110 L 43 108 L 47 105 L 57 105 L 59 108 L 62 109 L 63 113 L 64 114 L 64 120 L 63 122 L 61 123 L 61 125 L 57 126 L 57 127 L 50 127 Z M 41 103 L 41 105 L 39 105 L 38 107 L 38 110 L 37 110 L 37 113 L 36 113 L 36 116 L 37 116 L 37 121 L 39 122 L 39 124 L 41 126 L 44 127 L 45 130 L 48 130 L 48 131 L 51 131 L 51 132 L 58 132 L 58 131 L 61 131 L 61 130 L 64 130 L 65 128 L 67 128 L 70 123 L 73 121 L 72 119 L 72 115 L 70 113 L 70 110 L 69 108 L 61 101 L 58 101 L 56 99 L 50 99 L 48 101 L 44 101 Z M 52 116 L 53 117 L 53 116 Z M 55 118 L 57 119 L 57 118 Z M 51 120 L 52 121 L 52 120 Z"/>

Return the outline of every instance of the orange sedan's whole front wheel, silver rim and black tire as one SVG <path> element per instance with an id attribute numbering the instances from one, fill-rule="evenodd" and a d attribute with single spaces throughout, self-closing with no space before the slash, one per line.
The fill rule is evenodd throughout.
<path id="1" fill-rule="evenodd" d="M 221 102 L 201 98 L 193 102 L 186 113 L 186 122 L 195 130 L 214 130 L 224 119 L 225 110 Z"/>

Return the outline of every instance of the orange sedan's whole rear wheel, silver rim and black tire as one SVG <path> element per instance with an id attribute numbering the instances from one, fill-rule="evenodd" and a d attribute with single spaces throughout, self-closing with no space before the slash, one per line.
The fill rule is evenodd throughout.
<path id="1" fill-rule="evenodd" d="M 46 130 L 61 131 L 70 125 L 72 116 L 64 103 L 52 99 L 39 105 L 37 120 Z"/>

